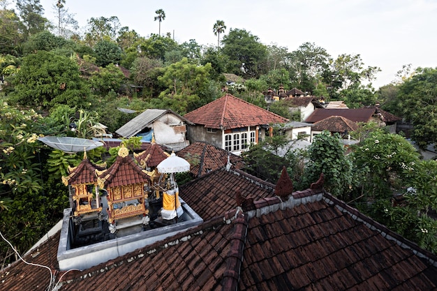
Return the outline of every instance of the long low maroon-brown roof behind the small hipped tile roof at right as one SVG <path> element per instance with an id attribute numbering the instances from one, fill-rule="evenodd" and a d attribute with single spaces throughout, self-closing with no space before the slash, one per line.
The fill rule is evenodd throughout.
<path id="1" fill-rule="evenodd" d="M 354 122 L 368 122 L 375 110 L 371 108 L 357 108 L 357 109 L 322 109 L 314 110 L 305 122 L 311 124 L 332 116 L 345 117 Z"/>

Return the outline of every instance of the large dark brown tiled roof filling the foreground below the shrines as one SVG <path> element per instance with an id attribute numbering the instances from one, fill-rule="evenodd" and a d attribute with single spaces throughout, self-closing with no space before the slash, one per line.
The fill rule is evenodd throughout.
<path id="1" fill-rule="evenodd" d="M 236 185 L 217 188 L 203 207 L 221 208 Z M 197 227 L 84 271 L 56 271 L 56 239 L 26 259 L 49 265 L 57 290 L 437 290 L 436 255 L 323 189 L 257 198 L 250 211 L 223 208 Z M 17 262 L 1 271 L 0 288 L 46 290 L 48 273 Z"/>

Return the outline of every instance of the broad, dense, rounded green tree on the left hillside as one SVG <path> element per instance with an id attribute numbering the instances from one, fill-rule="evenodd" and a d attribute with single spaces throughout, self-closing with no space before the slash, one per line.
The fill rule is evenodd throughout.
<path id="1" fill-rule="evenodd" d="M 88 107 L 89 88 L 80 77 L 75 58 L 39 51 L 23 58 L 13 80 L 10 98 L 28 107 L 50 108 L 57 104 Z"/>

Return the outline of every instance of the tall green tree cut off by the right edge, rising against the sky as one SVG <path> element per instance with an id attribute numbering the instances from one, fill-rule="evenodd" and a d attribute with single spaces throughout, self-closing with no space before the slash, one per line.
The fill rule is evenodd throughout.
<path id="1" fill-rule="evenodd" d="M 415 75 L 399 86 L 399 107 L 413 123 L 412 139 L 420 147 L 437 140 L 437 68 L 417 68 Z"/>

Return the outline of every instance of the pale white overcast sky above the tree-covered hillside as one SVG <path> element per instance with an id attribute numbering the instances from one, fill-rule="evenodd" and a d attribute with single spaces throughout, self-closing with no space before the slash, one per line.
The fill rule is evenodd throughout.
<path id="1" fill-rule="evenodd" d="M 56 0 L 40 0 L 45 17 L 56 23 Z M 91 17 L 117 16 L 121 26 L 141 36 L 158 33 L 155 11 L 163 9 L 161 34 L 178 43 L 195 39 L 216 45 L 212 28 L 223 20 L 227 29 L 246 29 L 265 45 L 297 50 L 315 43 L 336 58 L 360 54 L 365 66 L 378 66 L 373 87 L 394 80 L 403 65 L 437 67 L 437 0 L 66 0 L 80 27 Z"/>

